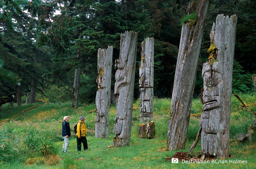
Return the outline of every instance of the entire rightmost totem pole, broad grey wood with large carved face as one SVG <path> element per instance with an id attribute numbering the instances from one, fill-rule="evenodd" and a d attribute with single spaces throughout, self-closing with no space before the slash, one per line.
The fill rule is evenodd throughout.
<path id="1" fill-rule="evenodd" d="M 232 95 L 232 71 L 236 39 L 236 15 L 218 15 L 216 18 L 214 44 L 210 56 L 213 60 L 204 63 L 203 113 L 201 149 L 205 156 L 227 158 L 229 152 L 230 109 Z"/>

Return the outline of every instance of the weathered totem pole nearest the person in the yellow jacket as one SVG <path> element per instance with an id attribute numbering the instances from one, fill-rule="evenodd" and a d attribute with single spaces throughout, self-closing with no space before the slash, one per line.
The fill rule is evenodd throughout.
<path id="1" fill-rule="evenodd" d="M 113 46 L 98 49 L 98 91 L 96 93 L 96 138 L 108 138 Z"/>

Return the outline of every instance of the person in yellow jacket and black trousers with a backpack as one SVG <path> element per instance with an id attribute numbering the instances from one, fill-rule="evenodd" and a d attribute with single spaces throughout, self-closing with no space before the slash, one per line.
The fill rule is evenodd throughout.
<path id="1" fill-rule="evenodd" d="M 80 120 L 79 120 L 79 123 L 77 123 L 77 128 L 76 128 L 77 151 L 81 151 L 82 143 L 84 145 L 84 150 L 88 149 L 87 139 L 86 139 L 87 130 L 86 130 L 84 120 L 85 120 L 84 116 L 81 116 Z"/>

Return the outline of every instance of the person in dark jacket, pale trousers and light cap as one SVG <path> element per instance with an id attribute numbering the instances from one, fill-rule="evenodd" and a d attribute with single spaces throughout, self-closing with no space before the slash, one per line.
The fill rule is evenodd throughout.
<path id="1" fill-rule="evenodd" d="M 64 144 L 63 144 L 62 152 L 67 153 L 67 147 L 69 145 L 69 137 L 71 136 L 70 125 L 67 122 L 69 120 L 69 116 L 65 116 L 63 120 L 64 122 L 62 123 L 62 137 L 64 138 Z"/>

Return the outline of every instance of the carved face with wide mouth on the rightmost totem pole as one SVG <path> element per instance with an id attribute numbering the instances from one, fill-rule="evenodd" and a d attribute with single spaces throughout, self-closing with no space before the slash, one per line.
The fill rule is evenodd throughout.
<path id="1" fill-rule="evenodd" d="M 222 91 L 222 76 L 218 69 L 218 65 L 218 62 L 215 62 L 213 68 L 211 68 L 209 63 L 205 63 L 203 66 L 204 72 L 202 72 L 202 76 L 204 79 L 204 111 L 221 107 L 220 95 Z"/>

